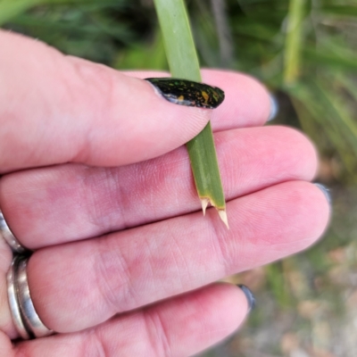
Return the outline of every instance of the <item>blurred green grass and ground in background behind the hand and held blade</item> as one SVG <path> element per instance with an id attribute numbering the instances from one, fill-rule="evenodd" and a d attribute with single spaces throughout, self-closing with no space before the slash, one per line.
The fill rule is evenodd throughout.
<path id="1" fill-rule="evenodd" d="M 252 287 L 245 328 L 203 356 L 357 355 L 357 0 L 187 1 L 202 66 L 275 93 L 275 123 L 320 151 L 333 220 L 311 250 L 230 277 Z M 152 0 L 0 0 L 0 25 L 117 69 L 167 69 Z"/>

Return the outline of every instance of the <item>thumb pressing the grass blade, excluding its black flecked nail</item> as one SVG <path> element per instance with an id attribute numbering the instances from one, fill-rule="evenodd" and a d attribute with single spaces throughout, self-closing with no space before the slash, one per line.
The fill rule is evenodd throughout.
<path id="1" fill-rule="evenodd" d="M 113 166 L 183 145 L 209 112 L 142 79 L 0 30 L 0 173 L 62 162 Z"/>

